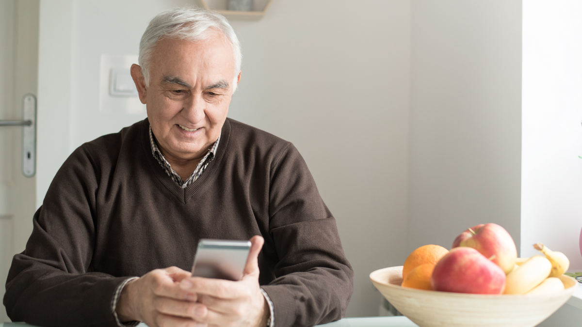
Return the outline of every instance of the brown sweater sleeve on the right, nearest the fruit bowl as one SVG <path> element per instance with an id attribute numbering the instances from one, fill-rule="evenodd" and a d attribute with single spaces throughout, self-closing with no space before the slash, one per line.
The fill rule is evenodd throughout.
<path id="1" fill-rule="evenodd" d="M 271 169 L 269 216 L 278 263 L 275 279 L 262 288 L 273 301 L 275 327 L 342 318 L 353 292 L 352 266 L 335 219 L 292 144 Z"/>

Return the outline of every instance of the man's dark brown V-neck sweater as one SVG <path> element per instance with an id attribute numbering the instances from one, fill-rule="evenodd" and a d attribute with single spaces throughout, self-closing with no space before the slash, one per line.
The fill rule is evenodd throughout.
<path id="1" fill-rule="evenodd" d="M 81 145 L 63 163 L 4 305 L 12 321 L 116 326 L 115 288 L 128 276 L 190 271 L 198 239 L 265 238 L 259 282 L 275 326 L 339 319 L 353 290 L 335 219 L 293 144 L 227 119 L 216 157 L 182 189 L 151 154 L 148 120 Z"/>

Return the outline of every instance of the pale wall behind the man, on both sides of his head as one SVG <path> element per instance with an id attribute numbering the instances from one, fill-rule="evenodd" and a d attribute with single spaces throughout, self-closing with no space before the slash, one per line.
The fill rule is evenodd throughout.
<path id="1" fill-rule="evenodd" d="M 47 89 L 39 95 L 39 138 L 68 148 L 51 158 L 39 154 L 39 205 L 66 158 L 62 151 L 143 119 L 98 111 L 100 55 L 137 54 L 155 14 L 191 2 L 41 1 L 39 84 Z M 354 266 L 347 315 L 376 315 L 380 295 L 368 274 L 406 258 L 410 1 L 275 0 L 262 20 L 232 24 L 244 57 L 229 116 L 299 148 Z M 49 42 L 57 31 L 64 35 L 55 49 Z M 63 65 L 58 79 L 66 88 L 49 93 L 54 86 L 47 83 Z M 41 129 L 53 122 L 52 112 L 63 130 Z"/>

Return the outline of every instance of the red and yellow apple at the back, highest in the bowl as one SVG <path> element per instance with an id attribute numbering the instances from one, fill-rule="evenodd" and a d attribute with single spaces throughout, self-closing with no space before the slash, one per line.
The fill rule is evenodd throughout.
<path id="1" fill-rule="evenodd" d="M 496 223 L 474 226 L 461 233 L 453 242 L 453 248 L 472 247 L 510 273 L 515 266 L 517 249 L 513 238 L 505 228 Z"/>

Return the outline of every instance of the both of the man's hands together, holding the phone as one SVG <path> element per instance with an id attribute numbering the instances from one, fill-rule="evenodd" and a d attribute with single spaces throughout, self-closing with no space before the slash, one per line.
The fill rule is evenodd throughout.
<path id="1" fill-rule="evenodd" d="M 243 279 L 191 277 L 177 267 L 156 269 L 123 287 L 116 306 L 120 321 L 143 321 L 150 327 L 264 327 L 269 307 L 258 284 L 258 261 L 264 239 L 253 236 Z"/>

